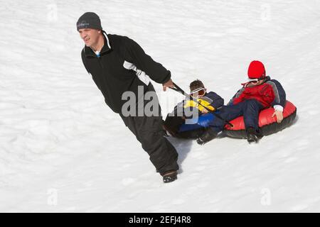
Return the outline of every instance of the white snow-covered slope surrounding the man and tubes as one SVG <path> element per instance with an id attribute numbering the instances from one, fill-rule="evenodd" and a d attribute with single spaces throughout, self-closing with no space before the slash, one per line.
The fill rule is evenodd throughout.
<path id="1" fill-rule="evenodd" d="M 320 211 L 320 1 L 0 0 L 0 211 Z M 87 75 L 75 28 L 95 11 L 183 89 L 201 79 L 228 101 L 261 60 L 297 120 L 257 145 L 170 138 L 170 184 Z M 161 91 L 166 115 L 183 97 Z"/>

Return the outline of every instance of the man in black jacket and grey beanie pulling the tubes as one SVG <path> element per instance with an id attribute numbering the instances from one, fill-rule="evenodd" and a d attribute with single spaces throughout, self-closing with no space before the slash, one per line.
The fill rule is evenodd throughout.
<path id="1" fill-rule="evenodd" d="M 85 42 L 81 52 L 83 65 L 105 96 L 106 104 L 136 135 L 164 182 L 174 181 L 178 153 L 164 138 L 159 100 L 150 82 L 152 79 L 163 84 L 164 91 L 174 87 L 170 71 L 146 55 L 134 40 L 105 33 L 96 13 L 80 16 L 77 30 Z M 150 92 L 153 99 L 147 101 L 145 96 Z M 134 104 L 128 107 L 126 97 L 130 94 L 134 95 Z M 153 106 L 151 115 L 145 112 L 149 103 Z"/>

